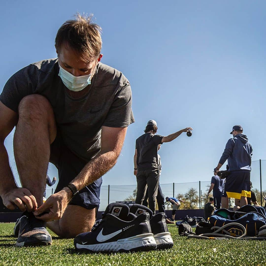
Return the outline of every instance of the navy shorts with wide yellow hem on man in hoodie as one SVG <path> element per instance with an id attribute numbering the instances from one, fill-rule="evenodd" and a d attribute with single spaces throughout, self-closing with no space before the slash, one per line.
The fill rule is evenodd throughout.
<path id="1" fill-rule="evenodd" d="M 251 197 L 250 192 L 250 172 L 231 173 L 225 180 L 225 193 L 228 198 L 239 199 L 241 197 Z"/>

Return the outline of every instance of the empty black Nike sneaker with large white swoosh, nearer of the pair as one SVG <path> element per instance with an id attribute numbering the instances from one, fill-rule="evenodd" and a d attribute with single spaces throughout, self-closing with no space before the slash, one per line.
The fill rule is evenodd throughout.
<path id="1" fill-rule="evenodd" d="M 136 217 L 123 203 L 107 206 L 102 220 L 95 222 L 91 232 L 81 233 L 74 239 L 77 250 L 90 252 L 149 251 L 156 242 L 149 224 L 149 214 Z"/>

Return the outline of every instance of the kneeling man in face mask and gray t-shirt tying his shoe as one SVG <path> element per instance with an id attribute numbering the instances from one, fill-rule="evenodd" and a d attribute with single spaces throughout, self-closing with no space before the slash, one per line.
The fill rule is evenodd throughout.
<path id="1" fill-rule="evenodd" d="M 134 122 L 131 88 L 118 70 L 100 63 L 101 28 L 76 15 L 58 30 L 58 58 L 15 73 L 0 95 L 0 196 L 23 211 L 17 246 L 52 243 L 90 231 L 101 176 L 117 162 Z M 4 140 L 16 126 L 14 155 L 22 188 L 9 166 Z M 48 163 L 58 168 L 55 194 L 43 203 Z"/>

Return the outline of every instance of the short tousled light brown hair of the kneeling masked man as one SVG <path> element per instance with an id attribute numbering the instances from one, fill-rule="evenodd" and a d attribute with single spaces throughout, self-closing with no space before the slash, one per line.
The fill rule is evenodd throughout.
<path id="1" fill-rule="evenodd" d="M 74 17 L 59 28 L 55 47 L 60 53 L 60 48 L 65 45 L 76 51 L 82 61 L 90 63 L 101 53 L 102 29 L 99 25 L 91 23 L 93 14 L 86 16 L 77 13 Z"/>

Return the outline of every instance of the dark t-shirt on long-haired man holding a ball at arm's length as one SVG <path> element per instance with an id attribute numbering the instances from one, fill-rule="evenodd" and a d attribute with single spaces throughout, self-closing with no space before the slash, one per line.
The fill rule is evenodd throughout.
<path id="1" fill-rule="evenodd" d="M 137 169 L 158 169 L 158 145 L 162 144 L 163 136 L 145 133 L 136 139 Z"/>

